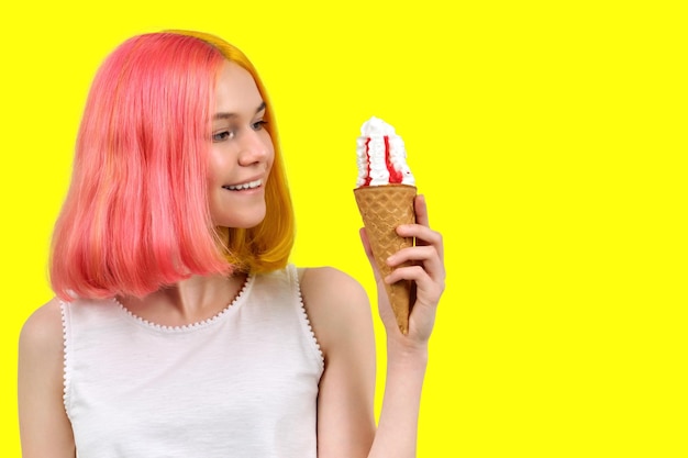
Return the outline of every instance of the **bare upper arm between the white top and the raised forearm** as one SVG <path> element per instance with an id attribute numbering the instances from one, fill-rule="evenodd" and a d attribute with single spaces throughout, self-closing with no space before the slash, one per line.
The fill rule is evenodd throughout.
<path id="1" fill-rule="evenodd" d="M 367 294 L 332 268 L 307 269 L 301 293 L 325 358 L 318 391 L 318 457 L 366 457 L 375 436 L 376 364 Z"/>

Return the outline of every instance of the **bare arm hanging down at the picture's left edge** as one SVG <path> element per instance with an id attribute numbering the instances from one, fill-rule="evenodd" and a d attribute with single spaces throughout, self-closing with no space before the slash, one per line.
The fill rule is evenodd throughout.
<path id="1" fill-rule="evenodd" d="M 63 404 L 63 329 L 53 300 L 29 317 L 19 340 L 19 426 L 24 458 L 74 458 L 71 424 Z"/>

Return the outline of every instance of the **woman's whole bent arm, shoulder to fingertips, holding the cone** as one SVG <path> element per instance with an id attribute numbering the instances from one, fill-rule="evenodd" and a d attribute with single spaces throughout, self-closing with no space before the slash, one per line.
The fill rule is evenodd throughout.
<path id="1" fill-rule="evenodd" d="M 398 232 L 417 237 L 419 246 L 399 252 L 392 256 L 390 265 L 413 259 L 420 266 L 399 268 L 388 279 L 381 279 L 375 270 L 388 347 L 387 386 L 377 431 L 374 413 L 375 337 L 365 290 L 354 279 L 334 269 L 308 269 L 303 275 L 303 302 L 325 356 L 318 395 L 319 458 L 415 456 L 428 338 L 444 290 L 442 237 L 428 227 L 422 198 L 417 200 L 417 213 L 419 224 L 399 227 Z M 362 238 L 371 257 L 365 233 Z M 399 332 L 382 283 L 402 278 L 414 280 L 418 286 L 406 336 Z"/>

